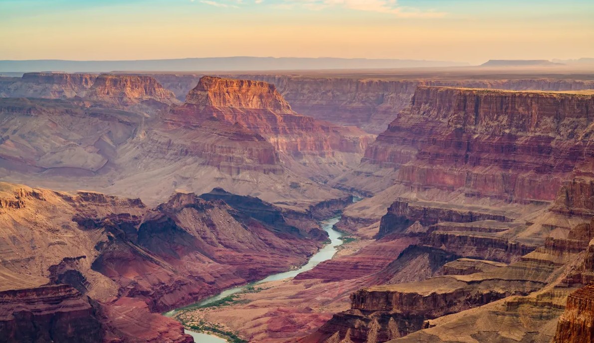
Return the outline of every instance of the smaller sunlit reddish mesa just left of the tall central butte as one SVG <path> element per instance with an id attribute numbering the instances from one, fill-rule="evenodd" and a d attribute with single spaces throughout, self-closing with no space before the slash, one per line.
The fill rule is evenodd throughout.
<path id="1" fill-rule="evenodd" d="M 136 104 L 143 100 L 163 103 L 175 101 L 175 94 L 163 88 L 153 77 L 138 75 L 101 74 L 85 97 L 123 105 Z"/>

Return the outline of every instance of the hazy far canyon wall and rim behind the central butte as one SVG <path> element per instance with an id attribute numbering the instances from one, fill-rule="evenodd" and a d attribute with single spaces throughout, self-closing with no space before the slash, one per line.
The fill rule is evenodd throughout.
<path id="1" fill-rule="evenodd" d="M 533 78 L 500 80 L 496 76 L 481 78 L 460 75 L 396 75 L 394 77 L 326 77 L 313 75 L 222 75 L 223 77 L 264 81 L 274 84 L 298 113 L 330 122 L 358 126 L 380 134 L 405 109 L 417 86 L 452 86 L 495 88 L 505 90 L 567 91 L 594 88 L 592 81 Z M 165 87 L 183 100 L 201 75 L 154 75 Z M 396 79 L 396 80 L 390 80 Z"/>

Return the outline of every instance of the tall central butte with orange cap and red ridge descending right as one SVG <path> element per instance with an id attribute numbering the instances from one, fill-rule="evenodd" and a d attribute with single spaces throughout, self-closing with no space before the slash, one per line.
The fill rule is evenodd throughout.
<path id="1" fill-rule="evenodd" d="M 166 122 L 200 126 L 207 119 L 241 125 L 264 136 L 276 150 L 288 153 L 362 154 L 373 136 L 293 112 L 272 84 L 262 81 L 202 77 Z"/>

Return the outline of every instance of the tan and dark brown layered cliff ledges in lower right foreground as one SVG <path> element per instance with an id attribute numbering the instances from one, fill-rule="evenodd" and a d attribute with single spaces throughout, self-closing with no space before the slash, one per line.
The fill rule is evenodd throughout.
<path id="1" fill-rule="evenodd" d="M 566 275 L 576 261 L 587 261 L 584 259 L 587 246 L 588 240 L 549 238 L 544 246 L 510 265 L 460 259 L 445 265 L 465 264 L 464 270 L 456 275 L 362 288 L 350 296 L 349 310 L 337 313 L 300 342 L 380 343 L 401 337 L 405 337 L 402 338 L 405 342 L 451 342 L 452 337 L 460 341 L 470 338 L 488 341 L 490 337 L 501 342 L 523 338 L 549 342 L 551 322 L 556 320 L 565 297 L 574 289 L 560 275 Z M 489 266 L 467 273 L 470 262 L 471 268 L 476 268 L 477 263 Z M 510 320 L 510 317 L 514 320 L 501 323 L 497 334 L 492 334 L 491 322 L 484 323 L 485 319 Z M 530 320 L 518 323 L 517 317 Z M 583 323 L 576 322 L 576 326 Z M 570 324 L 564 325 L 570 329 Z M 586 324 L 571 330 L 583 332 L 587 327 Z M 508 328 L 516 330 L 514 340 L 499 334 Z M 532 335 L 539 330 L 541 335 Z"/>

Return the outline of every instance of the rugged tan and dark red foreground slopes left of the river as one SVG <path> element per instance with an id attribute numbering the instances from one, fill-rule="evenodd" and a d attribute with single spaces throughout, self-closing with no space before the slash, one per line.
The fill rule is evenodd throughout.
<path id="1" fill-rule="evenodd" d="M 326 239 L 255 198 L 230 207 L 223 190 L 153 209 L 94 192 L 0 190 L 0 331 L 11 342 L 188 342 L 179 323 L 150 312 L 302 265 Z"/>

